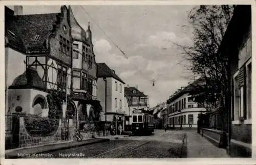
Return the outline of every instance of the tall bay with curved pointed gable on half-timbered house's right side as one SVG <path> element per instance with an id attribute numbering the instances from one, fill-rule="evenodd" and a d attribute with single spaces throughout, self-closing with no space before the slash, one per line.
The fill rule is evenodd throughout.
<path id="1" fill-rule="evenodd" d="M 97 63 L 93 51 L 90 23 L 87 32 L 76 21 L 69 6 L 69 22 L 73 38 L 72 80 L 74 98 L 97 98 Z"/>

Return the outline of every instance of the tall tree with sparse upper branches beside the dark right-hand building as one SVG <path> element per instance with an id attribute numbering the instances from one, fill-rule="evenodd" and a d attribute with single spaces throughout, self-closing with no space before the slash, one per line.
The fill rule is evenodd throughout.
<path id="1" fill-rule="evenodd" d="M 226 106 L 229 90 L 228 57 L 217 53 L 233 13 L 229 5 L 201 5 L 188 13 L 193 45 L 179 45 L 190 65 L 187 69 L 204 78 L 205 84 L 191 92 L 198 102 Z"/>

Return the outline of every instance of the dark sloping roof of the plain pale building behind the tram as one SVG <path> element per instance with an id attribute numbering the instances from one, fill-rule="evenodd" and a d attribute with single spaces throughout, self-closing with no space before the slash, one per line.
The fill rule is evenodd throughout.
<path id="1" fill-rule="evenodd" d="M 114 73 L 114 71 L 110 69 L 108 65 L 106 65 L 105 63 L 97 63 L 97 65 L 98 65 L 98 73 L 97 73 L 98 77 L 113 77 L 118 81 L 122 82 L 123 84 L 125 84 L 125 82 L 121 78 L 119 78 L 116 75 L 116 73 Z"/>

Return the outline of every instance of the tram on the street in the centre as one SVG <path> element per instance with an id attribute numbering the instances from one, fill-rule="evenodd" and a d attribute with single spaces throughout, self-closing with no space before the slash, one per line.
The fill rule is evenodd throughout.
<path id="1" fill-rule="evenodd" d="M 152 134 L 154 132 L 154 116 L 144 109 L 136 109 L 132 113 L 133 134 Z"/>

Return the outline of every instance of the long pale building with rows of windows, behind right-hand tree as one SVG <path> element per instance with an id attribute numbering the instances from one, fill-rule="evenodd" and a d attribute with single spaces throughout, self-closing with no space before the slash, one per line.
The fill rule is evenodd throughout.
<path id="1" fill-rule="evenodd" d="M 167 100 L 169 128 L 197 129 L 198 115 L 205 113 L 206 108 L 194 102 L 189 92 L 199 81 L 201 80 L 198 79 L 189 86 L 179 89 Z"/>

